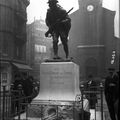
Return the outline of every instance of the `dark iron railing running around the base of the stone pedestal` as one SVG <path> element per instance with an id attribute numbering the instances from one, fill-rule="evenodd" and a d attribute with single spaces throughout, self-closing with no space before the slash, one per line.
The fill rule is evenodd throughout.
<path id="1" fill-rule="evenodd" d="M 84 110 L 84 99 L 96 99 L 95 97 L 90 97 L 91 94 L 97 95 L 98 102 L 95 104 L 95 111 L 99 110 L 101 112 L 101 120 L 103 120 L 104 110 L 102 84 L 97 86 L 96 91 L 85 90 L 83 85 L 80 86 L 80 90 L 81 98 L 76 101 L 39 100 L 30 103 L 33 97 L 25 97 L 21 88 L 19 88 L 18 91 L 13 91 L 12 88 L 10 91 L 6 91 L 5 86 L 3 86 L 3 91 L 0 93 L 0 120 L 21 120 L 23 119 L 21 118 L 23 113 L 26 113 L 24 119 L 27 120 L 29 117 L 33 117 L 33 113 L 35 112 L 34 117 L 41 118 L 41 120 L 59 120 L 66 119 L 67 117 L 73 120 L 89 120 L 89 111 Z"/>

